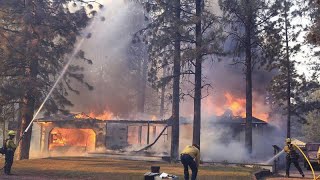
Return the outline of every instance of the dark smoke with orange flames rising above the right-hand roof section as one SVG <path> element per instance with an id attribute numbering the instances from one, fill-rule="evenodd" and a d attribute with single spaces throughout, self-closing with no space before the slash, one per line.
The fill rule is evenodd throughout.
<path id="1" fill-rule="evenodd" d="M 234 116 L 245 116 L 246 112 L 246 81 L 241 64 L 232 65 L 230 58 L 222 58 L 218 62 L 207 58 L 203 64 L 203 84 L 210 84 L 209 88 L 202 89 L 202 118 L 222 115 L 232 110 Z M 269 102 L 267 87 L 272 79 L 273 72 L 255 69 L 253 81 L 253 116 L 268 122 L 278 121 L 271 119 L 272 109 Z M 192 89 L 191 84 L 184 85 Z M 181 115 L 193 118 L 193 99 L 184 99 L 181 104 Z"/>

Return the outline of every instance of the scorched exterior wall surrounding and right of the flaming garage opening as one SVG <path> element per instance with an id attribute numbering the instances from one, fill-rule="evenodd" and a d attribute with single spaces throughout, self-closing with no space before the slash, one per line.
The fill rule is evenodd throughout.
<path id="1" fill-rule="evenodd" d="M 50 133 L 54 128 L 70 129 L 92 129 L 96 134 L 96 150 L 121 150 L 130 145 L 147 145 L 148 125 L 146 123 L 130 122 L 108 122 L 97 120 L 64 120 L 64 121 L 45 121 L 35 122 L 39 127 L 36 133 L 36 140 L 40 142 L 37 151 L 43 155 L 49 153 Z M 134 128 L 132 128 L 134 127 Z M 149 144 L 160 134 L 164 128 L 163 124 L 150 124 Z M 129 132 L 130 129 L 130 132 Z M 164 133 L 159 142 L 170 142 L 170 131 Z M 135 138 L 135 139 L 132 139 Z M 130 143 L 129 143 L 130 142 Z"/>

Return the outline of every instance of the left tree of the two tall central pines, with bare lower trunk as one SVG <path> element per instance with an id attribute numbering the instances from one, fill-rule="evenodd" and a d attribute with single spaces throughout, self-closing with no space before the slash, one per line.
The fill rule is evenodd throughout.
<path id="1" fill-rule="evenodd" d="M 144 3 L 144 6 L 148 13 L 146 19 L 149 24 L 139 32 L 134 41 L 142 39 L 148 44 L 149 60 L 151 61 L 149 81 L 158 80 L 159 65 L 168 64 L 168 61 L 173 64 L 171 158 L 176 160 L 179 150 L 181 2 L 180 0 L 148 1 Z"/>

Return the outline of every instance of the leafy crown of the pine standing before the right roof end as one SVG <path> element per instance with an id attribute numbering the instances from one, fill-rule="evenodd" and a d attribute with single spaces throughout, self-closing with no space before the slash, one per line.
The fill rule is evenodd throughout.
<path id="1" fill-rule="evenodd" d="M 246 49 L 252 54 L 252 67 L 262 64 L 270 58 L 269 46 L 264 46 L 266 32 L 277 34 L 272 18 L 277 15 L 276 3 L 268 0 L 219 0 L 223 11 L 225 33 L 229 47 L 225 49 L 233 54 L 235 63 L 244 63 Z M 250 39 L 251 43 L 248 43 Z"/>

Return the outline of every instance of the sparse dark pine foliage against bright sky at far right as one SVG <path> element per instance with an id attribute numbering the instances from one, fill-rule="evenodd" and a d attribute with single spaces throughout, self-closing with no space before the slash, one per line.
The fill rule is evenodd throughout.
<path id="1" fill-rule="evenodd" d="M 309 101 L 307 98 L 320 87 L 317 72 L 311 78 L 307 78 L 303 74 L 298 74 L 296 69 L 301 63 L 297 61 L 297 54 L 301 53 L 301 44 L 297 43 L 297 37 L 304 31 L 304 28 L 302 24 L 294 24 L 292 22 L 295 22 L 296 18 L 303 16 L 301 11 L 305 4 L 298 0 L 276 1 L 276 4 L 277 16 L 269 22 L 273 28 L 272 30 L 270 28 L 264 31 L 263 43 L 264 47 L 268 47 L 266 48 L 268 59 L 264 61 L 266 68 L 276 72 L 268 88 L 272 96 L 271 103 L 275 106 L 283 107 L 287 111 L 289 78 L 290 113 L 297 116 L 300 122 L 305 123 L 307 121 L 305 115 L 320 107 L 319 102 Z M 286 34 L 288 39 L 286 39 Z"/>

